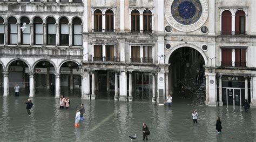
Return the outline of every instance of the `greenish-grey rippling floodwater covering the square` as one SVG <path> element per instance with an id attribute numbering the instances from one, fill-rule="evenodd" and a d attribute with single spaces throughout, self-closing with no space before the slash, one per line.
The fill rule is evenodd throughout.
<path id="1" fill-rule="evenodd" d="M 36 96 L 31 116 L 25 109 L 26 95 L 0 97 L 0 141 L 131 141 L 134 134 L 142 141 L 143 122 L 151 131 L 149 141 L 256 141 L 256 109 L 246 113 L 240 106 L 208 107 L 204 96 L 174 96 L 172 107 L 136 97 L 133 102 L 114 102 L 113 94 L 91 101 L 69 97 L 70 108 L 60 110 L 59 99 Z M 80 103 L 85 115 L 76 129 Z M 198 124 L 193 124 L 193 109 L 198 111 Z M 216 116 L 223 126 L 219 134 Z"/>

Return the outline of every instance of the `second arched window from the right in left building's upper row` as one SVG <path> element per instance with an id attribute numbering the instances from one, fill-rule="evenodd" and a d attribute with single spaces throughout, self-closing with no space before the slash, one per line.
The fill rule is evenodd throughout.
<path id="1" fill-rule="evenodd" d="M 69 21 L 67 18 L 62 17 L 59 19 L 59 44 L 69 45 Z"/>

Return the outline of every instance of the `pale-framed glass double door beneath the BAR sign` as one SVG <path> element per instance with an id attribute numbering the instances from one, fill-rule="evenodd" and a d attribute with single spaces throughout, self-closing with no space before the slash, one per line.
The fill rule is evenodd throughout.
<path id="1" fill-rule="evenodd" d="M 241 89 L 227 88 L 227 105 L 241 106 Z"/>

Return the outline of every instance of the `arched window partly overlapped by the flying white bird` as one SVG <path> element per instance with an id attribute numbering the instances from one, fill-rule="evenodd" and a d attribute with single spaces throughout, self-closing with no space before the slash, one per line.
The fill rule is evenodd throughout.
<path id="1" fill-rule="evenodd" d="M 26 28 L 22 30 L 21 34 L 21 44 L 30 44 L 30 25 L 29 25 L 29 18 L 28 17 L 22 17 L 21 18 L 21 27 L 23 24 L 26 23 Z M 20 28 L 20 27 L 19 27 Z"/>

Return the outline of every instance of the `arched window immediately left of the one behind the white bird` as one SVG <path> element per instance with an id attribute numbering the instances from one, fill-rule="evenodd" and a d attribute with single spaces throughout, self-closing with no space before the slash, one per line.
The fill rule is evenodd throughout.
<path id="1" fill-rule="evenodd" d="M 17 44 L 17 20 L 14 17 L 9 17 L 8 19 L 8 44 Z"/>

